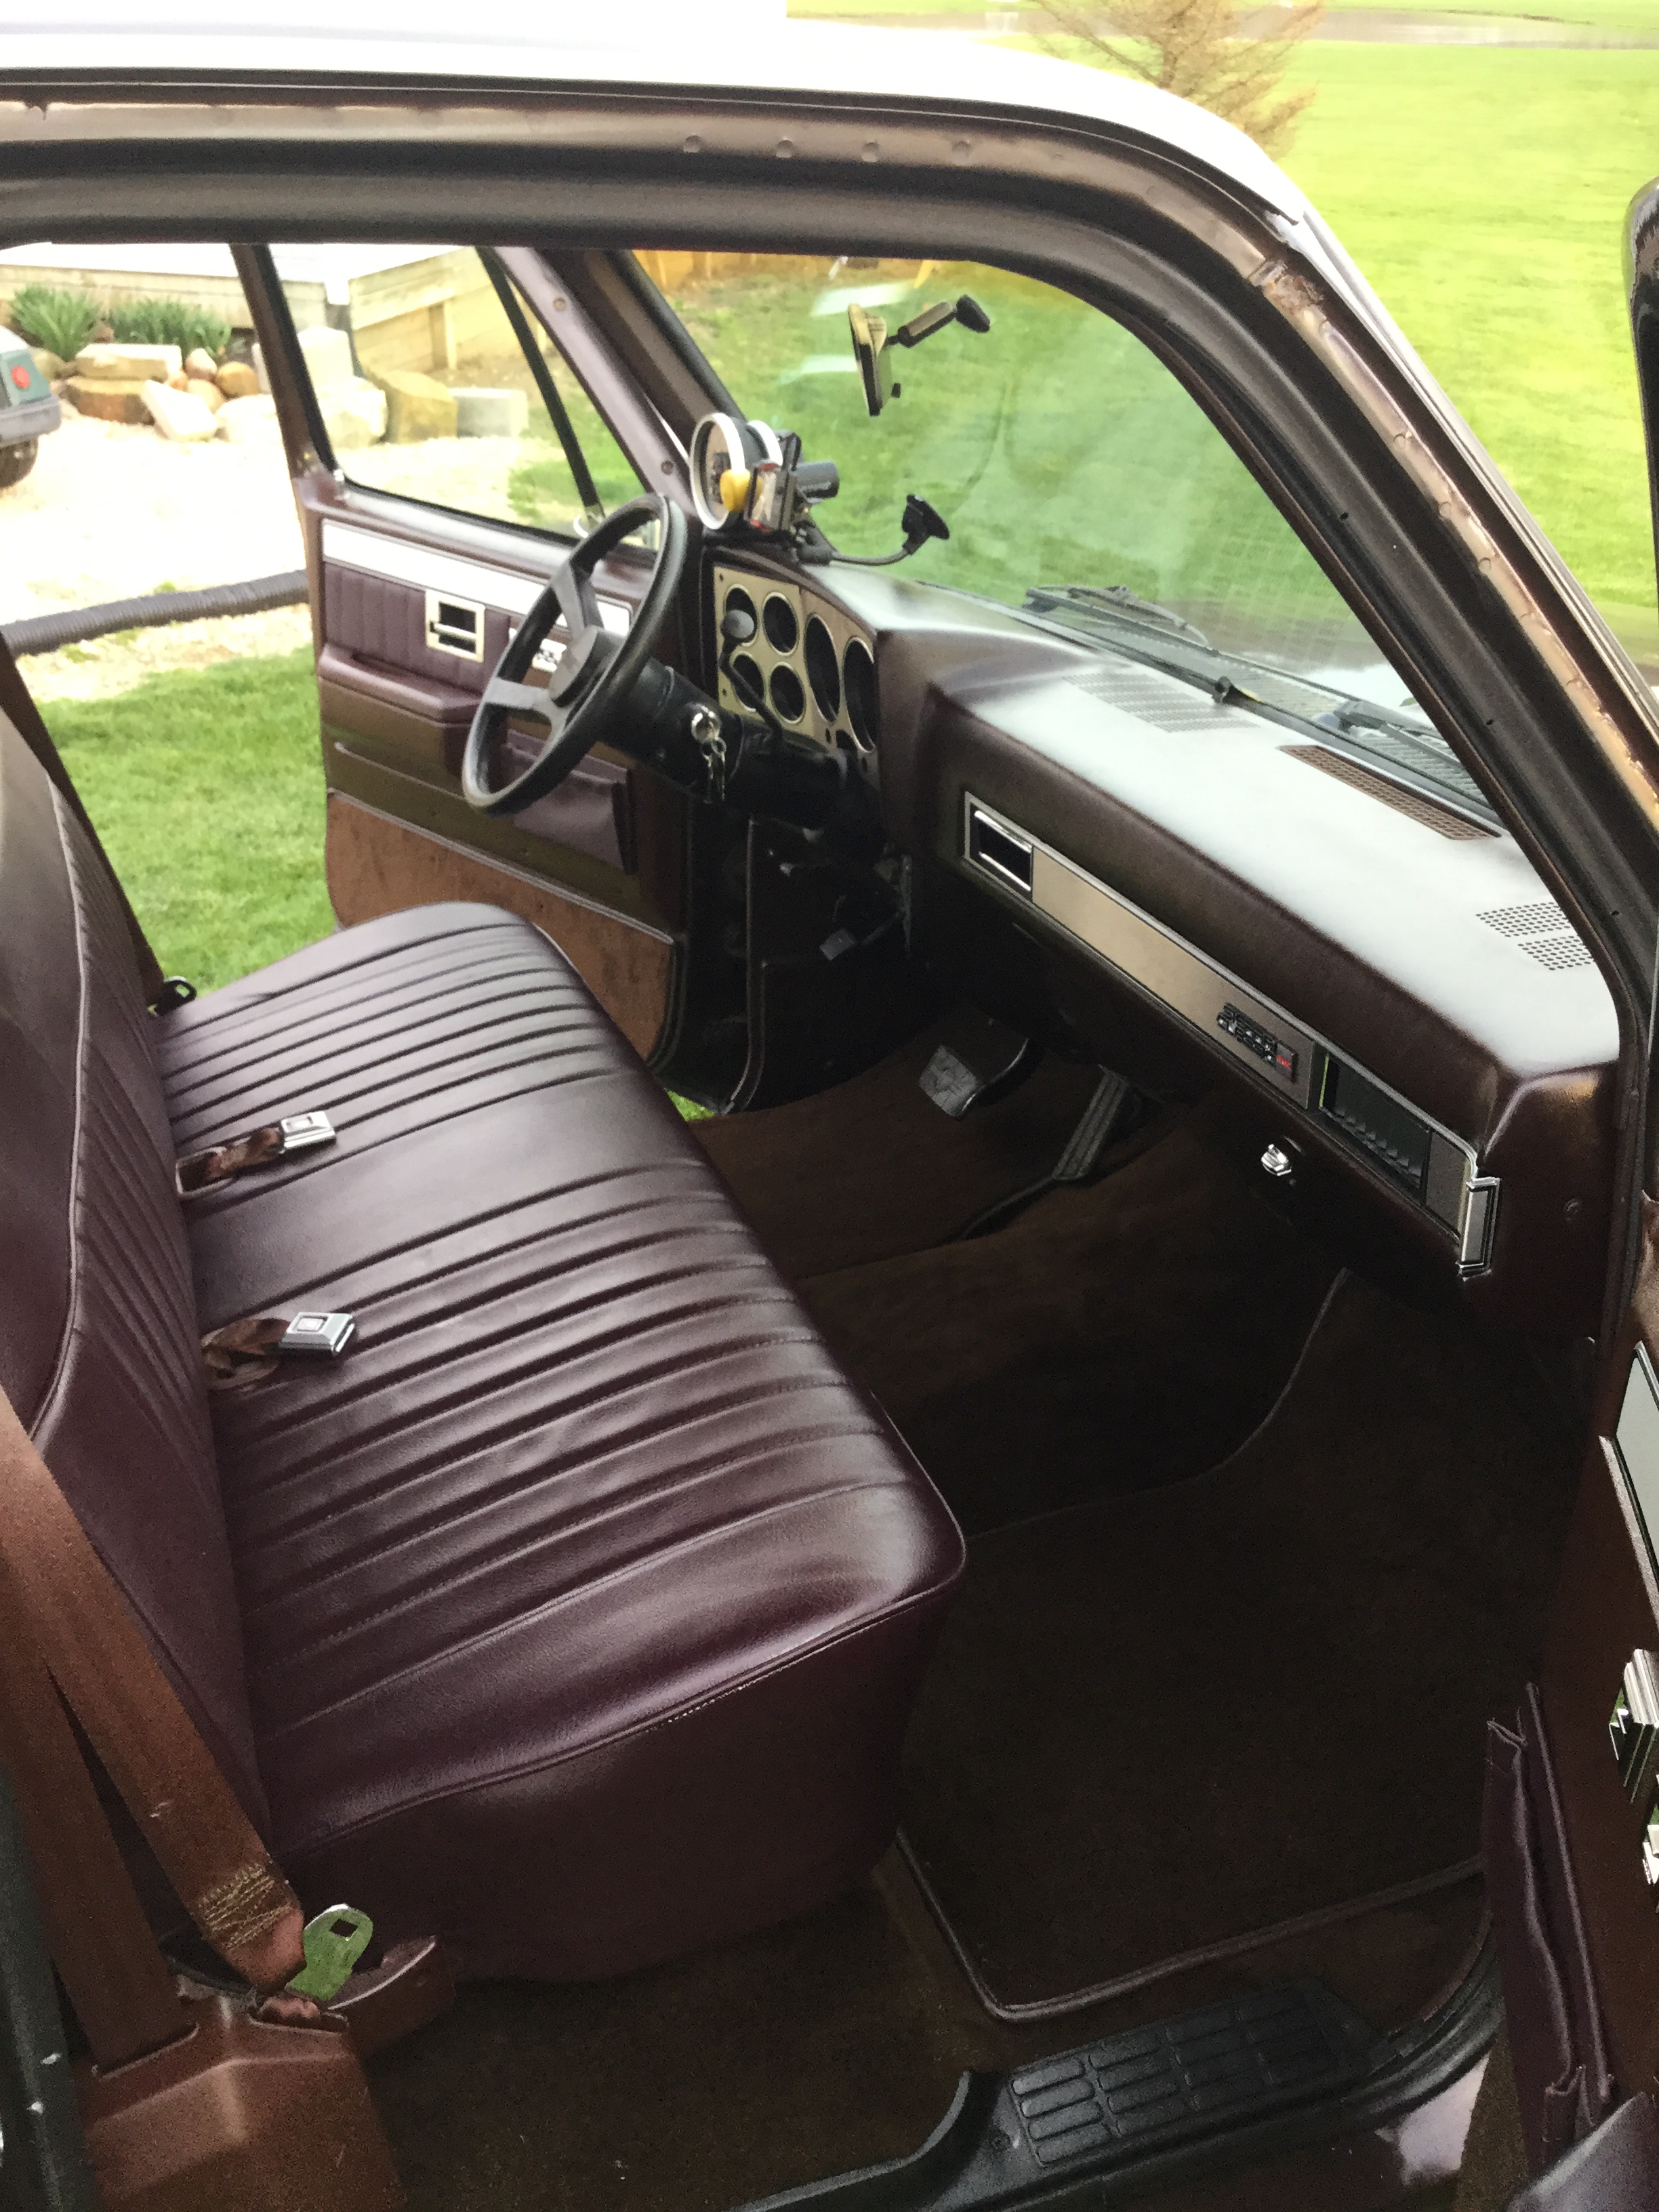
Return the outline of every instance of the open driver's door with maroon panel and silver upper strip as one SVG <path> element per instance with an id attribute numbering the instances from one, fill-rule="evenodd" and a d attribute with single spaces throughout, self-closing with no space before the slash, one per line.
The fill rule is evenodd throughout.
<path id="1" fill-rule="evenodd" d="M 478 257 L 434 257 L 431 270 L 458 288 L 442 327 L 427 310 L 389 312 L 400 305 L 392 288 L 407 274 L 398 270 L 349 281 L 345 327 L 294 334 L 270 281 L 254 303 L 272 385 L 285 400 L 312 580 L 330 898 L 343 922 L 447 898 L 524 914 L 560 942 L 635 1046 L 650 1053 L 672 1026 L 681 969 L 688 836 L 681 796 L 604 748 L 560 790 L 511 818 L 476 814 L 460 794 L 478 695 L 551 566 L 568 551 L 549 529 L 498 518 L 513 507 L 511 487 L 529 469 L 538 487 L 549 487 L 535 491 L 538 515 L 557 520 L 560 447 L 535 436 L 518 442 L 387 436 L 343 451 L 338 467 L 325 449 L 327 422 L 338 427 L 345 418 L 321 363 L 354 367 L 358 392 L 380 380 L 389 398 L 398 378 L 414 387 L 436 389 L 449 378 L 462 392 L 471 383 L 513 392 L 515 372 L 500 352 L 507 323 L 489 283 L 476 281 Z M 403 352 L 427 343 L 442 347 L 445 361 L 434 354 L 429 365 L 403 363 Z M 518 347 L 511 332 L 507 343 Z M 518 389 L 533 383 L 522 356 L 520 369 Z M 520 414 L 533 409 L 535 394 L 518 405 Z M 299 416 L 307 418 L 314 451 L 292 451 Z M 387 431 L 394 427 L 387 414 Z M 588 445 L 595 434 L 606 436 L 588 409 Z M 619 469 L 628 465 L 615 447 L 595 462 L 606 500 L 635 489 L 633 471 L 622 484 Z M 383 489 L 365 482 L 376 473 Z M 427 480 L 425 495 L 405 489 Z M 389 482 L 398 489 L 385 489 Z M 456 504 L 436 504 L 438 498 Z M 635 549 L 599 566 L 595 586 L 611 628 L 626 630 L 646 573 L 648 560 Z M 675 639 L 666 637 L 661 650 L 672 657 Z M 511 750 L 529 757 L 529 739 Z"/>

